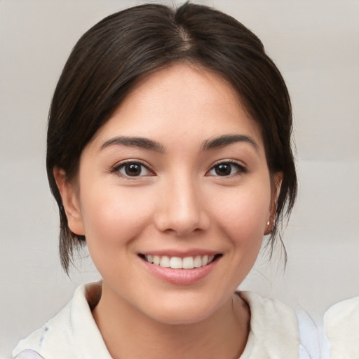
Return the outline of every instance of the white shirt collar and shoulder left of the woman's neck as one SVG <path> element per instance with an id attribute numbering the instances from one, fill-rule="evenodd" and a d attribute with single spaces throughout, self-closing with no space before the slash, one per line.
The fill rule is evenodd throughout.
<path id="1" fill-rule="evenodd" d="M 111 358 L 91 313 L 100 290 L 100 283 L 77 288 L 71 302 L 57 316 L 20 341 L 13 358 Z"/>

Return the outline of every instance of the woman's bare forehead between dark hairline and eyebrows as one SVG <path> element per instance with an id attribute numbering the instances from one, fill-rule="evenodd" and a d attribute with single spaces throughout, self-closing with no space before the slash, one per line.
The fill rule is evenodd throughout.
<path id="1" fill-rule="evenodd" d="M 94 140 L 141 135 L 185 142 L 222 133 L 243 133 L 262 143 L 259 126 L 228 81 L 206 69 L 180 64 L 141 79 Z"/>

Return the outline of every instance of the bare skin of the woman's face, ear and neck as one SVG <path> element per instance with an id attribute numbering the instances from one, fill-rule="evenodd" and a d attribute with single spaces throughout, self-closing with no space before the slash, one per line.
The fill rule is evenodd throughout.
<path id="1" fill-rule="evenodd" d="M 242 140 L 203 149 L 225 135 Z M 144 165 L 140 175 L 126 175 L 128 160 Z M 93 316 L 113 358 L 241 355 L 250 313 L 233 292 L 269 231 L 276 189 L 260 130 L 224 79 L 185 64 L 147 76 L 83 149 L 76 179 L 54 172 L 69 228 L 86 236 L 103 278 Z M 186 285 L 139 256 L 206 251 L 220 254 L 212 271 Z"/>

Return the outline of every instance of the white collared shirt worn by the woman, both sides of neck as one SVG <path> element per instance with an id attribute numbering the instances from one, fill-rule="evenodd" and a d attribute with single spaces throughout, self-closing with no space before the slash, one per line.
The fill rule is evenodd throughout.
<path id="1" fill-rule="evenodd" d="M 91 313 L 100 290 L 100 283 L 77 288 L 72 301 L 57 316 L 20 341 L 13 358 L 112 359 Z M 294 312 L 276 299 L 264 299 L 254 292 L 238 294 L 251 313 L 248 342 L 240 359 L 299 358 Z"/>

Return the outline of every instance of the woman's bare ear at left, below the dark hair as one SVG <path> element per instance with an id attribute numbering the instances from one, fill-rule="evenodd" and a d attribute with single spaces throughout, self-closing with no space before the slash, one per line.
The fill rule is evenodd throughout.
<path id="1" fill-rule="evenodd" d="M 60 191 L 69 229 L 78 236 L 84 236 L 83 221 L 79 203 L 79 194 L 76 185 L 69 182 L 66 172 L 61 168 L 54 168 L 53 175 Z"/>

